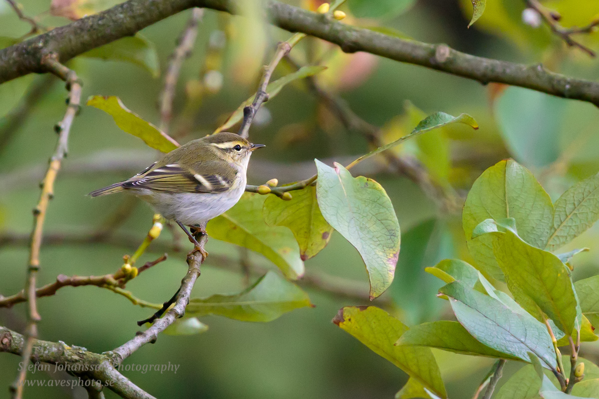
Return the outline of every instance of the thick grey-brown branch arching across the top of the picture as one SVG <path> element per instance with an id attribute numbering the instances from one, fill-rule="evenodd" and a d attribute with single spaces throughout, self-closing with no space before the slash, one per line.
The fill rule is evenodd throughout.
<path id="1" fill-rule="evenodd" d="M 0 50 L 0 83 L 44 72 L 41 59 L 50 51 L 66 62 L 85 51 L 134 35 L 146 26 L 187 8 L 205 7 L 236 13 L 239 0 L 129 0 L 102 13 L 53 29 L 28 41 Z M 268 1 L 271 22 L 290 32 L 302 32 L 337 44 L 343 51 L 366 51 L 400 62 L 473 79 L 505 83 L 550 95 L 599 105 L 599 83 L 547 71 L 542 65 L 522 65 L 461 53 L 444 44 L 400 39 L 356 28 L 328 16 Z"/>

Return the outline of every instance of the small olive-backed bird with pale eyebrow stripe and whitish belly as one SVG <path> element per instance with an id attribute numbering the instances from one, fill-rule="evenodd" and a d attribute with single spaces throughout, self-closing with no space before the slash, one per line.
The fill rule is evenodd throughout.
<path id="1" fill-rule="evenodd" d="M 165 154 L 132 178 L 89 193 L 92 197 L 128 191 L 175 221 L 194 243 L 194 251 L 207 255 L 185 226 L 198 228 L 231 209 L 246 188 L 251 144 L 235 133 L 216 133 L 193 140 Z M 199 227 L 200 233 L 205 233 Z"/>

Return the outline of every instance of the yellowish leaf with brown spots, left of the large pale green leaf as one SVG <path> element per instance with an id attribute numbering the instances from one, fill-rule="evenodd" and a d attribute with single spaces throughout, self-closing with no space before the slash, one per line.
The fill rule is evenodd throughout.
<path id="1" fill-rule="evenodd" d="M 289 201 L 274 195 L 268 196 L 262 212 L 268 225 L 289 227 L 294 233 L 302 260 L 316 255 L 331 239 L 333 228 L 320 213 L 316 187 L 313 185 L 294 191 Z"/>

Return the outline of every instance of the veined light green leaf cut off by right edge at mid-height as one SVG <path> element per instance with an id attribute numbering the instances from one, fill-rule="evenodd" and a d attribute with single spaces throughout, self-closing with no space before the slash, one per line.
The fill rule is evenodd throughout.
<path id="1" fill-rule="evenodd" d="M 564 246 L 599 219 L 599 173 L 568 188 L 555 202 L 547 251 Z"/>

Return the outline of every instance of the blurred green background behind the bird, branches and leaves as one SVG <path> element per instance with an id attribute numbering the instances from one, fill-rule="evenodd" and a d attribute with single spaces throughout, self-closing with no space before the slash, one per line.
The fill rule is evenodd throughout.
<path id="1" fill-rule="evenodd" d="M 288 2 L 305 8 L 319 4 Z M 348 3 L 351 6 L 352 0 Z M 420 41 L 444 42 L 480 56 L 521 63 L 543 62 L 554 71 L 597 80 L 599 64 L 595 59 L 576 49 L 565 48 L 558 39 L 552 38 L 545 26 L 532 28 L 522 22 L 522 1 L 489 0 L 485 14 L 470 29 L 467 29 L 471 15 L 468 0 L 404 3 L 406 7 L 401 12 L 375 18 L 352 16 L 352 9 L 345 5 L 343 10 L 348 14 L 345 22 L 393 28 Z M 599 14 L 594 0 L 554 0 L 544 4 L 559 10 L 564 26 L 586 25 Z M 94 7 L 108 5 L 94 4 Z M 45 26 L 68 23 L 65 18 L 50 16 L 47 0 L 23 1 L 23 6 L 27 14 L 39 16 Z M 156 62 L 162 72 L 189 15 L 189 11 L 177 14 L 141 32 L 155 45 Z M 0 2 L 0 36 L 17 38 L 28 30 L 29 26 L 20 22 L 5 2 Z M 171 132 L 179 134 L 178 129 L 185 130 L 185 123 L 192 121 L 188 134 L 177 137 L 181 142 L 211 133 L 252 95 L 261 65 L 270 59 L 276 42 L 290 35 L 277 28 L 265 29 L 256 20 L 210 10 L 205 11 L 198 32 L 195 48 L 183 65 L 174 102 L 176 115 Z M 223 47 L 214 46 L 219 41 Z M 582 37 L 581 41 L 599 50 L 599 33 Z M 465 196 L 482 170 L 510 156 L 533 170 L 553 199 L 574 182 L 599 170 L 599 112 L 589 103 L 518 88 L 503 90 L 492 84 L 482 86 L 464 78 L 363 53 L 347 55 L 317 39 L 307 39 L 294 48 L 292 57 L 302 64 L 329 66 L 328 71 L 317 76 L 319 82 L 345 99 L 362 118 L 383 127 L 388 137 L 406 133 L 398 131 L 403 126 L 401 115 L 404 115 L 406 100 L 426 114 L 467 112 L 476 118 L 480 125 L 476 132 L 468 127 L 452 127 L 438 133 L 443 147 L 435 151 L 446 154 L 446 163 L 438 159 L 423 162 L 438 179 L 437 183 L 449 187 L 458 198 Z M 148 62 L 155 62 L 152 56 Z M 156 104 L 163 85 L 162 72 L 155 78 L 147 69 L 133 63 L 84 57 L 73 60 L 69 66 L 84 83 L 83 99 L 91 95 L 116 95 L 141 117 L 159 123 Z M 220 75 L 205 78 L 207 71 L 217 71 Z M 276 77 L 288 72 L 288 66 L 281 65 Z M 35 79 L 37 77 L 28 76 L 0 86 L 2 115 L 19 102 Z M 194 88 L 206 86 L 212 90 L 204 90 L 201 96 L 194 92 Z M 2 236 L 28 234 L 31 229 L 31 209 L 39 195 L 38 181 L 55 147 L 53 125 L 62 118 L 65 96 L 62 84 L 55 81 L 11 139 L 0 147 Z M 274 177 L 280 182 L 307 178 L 315 170 L 311 163 L 314 158 L 350 160 L 368 150 L 364 137 L 344 130 L 301 82 L 286 86 L 264 108 L 268 112 L 259 115 L 250 137 L 253 142 L 266 144 L 267 148 L 252 158 L 250 184 L 261 184 Z M 398 151 L 420 160 L 430 157 L 422 148 L 413 146 Z M 56 197 L 50 203 L 45 232 L 96 231 L 125 198 L 90 199 L 86 194 L 128 178 L 156 156 L 155 151 L 139 139 L 119 130 L 107 114 L 83 106 L 72 127 L 69 156 L 56 183 Z M 387 310 L 408 325 L 449 317 L 446 303 L 435 298 L 441 282 L 426 275 L 423 269 L 442 258 L 468 260 L 461 212 L 439 208 L 418 185 L 392 173 L 382 160 L 368 161 L 362 173 L 385 187 L 402 230 L 402 252 L 394 284 L 372 304 L 385 304 Z M 117 235 L 128 234 L 141 242 L 151 226 L 151 218 L 152 211 L 139 204 L 123 221 Z M 569 245 L 591 248 L 574 260 L 576 279 L 599 272 L 598 237 L 599 229 L 595 227 Z M 156 258 L 161 254 L 160 243 L 164 248 L 170 240 L 171 235 L 165 230 L 159 242 L 150 246 L 140 261 Z M 183 252 L 187 251 L 187 244 L 183 242 Z M 239 264 L 240 251 L 233 245 L 213 239 L 207 249 L 210 254 L 229 255 L 232 264 Z M 38 284 L 52 282 L 60 273 L 81 276 L 113 273 L 122 264 L 123 255 L 132 254 L 134 250 L 135 246 L 128 244 L 44 246 Z M 167 300 L 179 287 L 186 271 L 184 255 L 170 255 L 164 263 L 129 282 L 128 290 L 155 303 Z M 0 246 L 1 294 L 10 295 L 22 289 L 27 257 L 25 245 Z M 250 260 L 274 268 L 261 255 L 251 254 Z M 368 278 L 358 252 L 336 233 L 329 245 L 317 257 L 306 261 L 305 266 L 311 272 L 353 280 L 367 292 Z M 209 257 L 202 266 L 193 296 L 238 292 L 244 287 L 241 265 L 239 270 L 239 273 L 222 270 L 211 264 Z M 299 309 L 267 324 L 204 318 L 202 321 L 210 327 L 207 333 L 160 336 L 155 345 L 144 346 L 126 361 L 126 364 L 180 364 L 177 373 L 125 371 L 124 374 L 161 398 L 393 397 L 406 382 L 406 374 L 331 323 L 340 307 L 367 304 L 367 298 L 353 300 L 312 289 L 308 293 L 316 304 L 313 309 Z M 96 352 L 108 351 L 126 342 L 138 330 L 135 321 L 152 312 L 97 287 L 66 287 L 55 296 L 41 299 L 39 304 L 43 317 L 42 339 L 62 340 Z M 0 310 L 2 325 L 17 331 L 22 328 L 24 317 L 23 304 Z M 585 344 L 581 353 L 599 361 L 599 346 L 595 344 Z M 440 351 L 435 351 L 435 355 L 449 396 L 456 398 L 471 397 L 492 364 L 492 360 Z M 19 361 L 14 355 L 0 356 L 0 387 L 8 387 L 12 382 Z M 519 367 L 511 363 L 506 374 Z M 64 377 L 40 372 L 29 374 L 30 379 Z M 70 395 L 86 397 L 83 389 L 26 388 L 25 391 L 29 398 Z M 116 397 L 112 392 L 106 395 Z M 8 388 L 0 388 L 0 397 L 8 397 Z"/>

